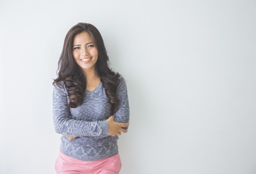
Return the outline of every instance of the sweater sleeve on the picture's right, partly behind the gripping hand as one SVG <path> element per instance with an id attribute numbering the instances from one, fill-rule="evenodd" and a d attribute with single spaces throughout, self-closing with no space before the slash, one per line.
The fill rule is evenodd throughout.
<path id="1" fill-rule="evenodd" d="M 130 119 L 130 108 L 129 108 L 129 100 L 127 93 L 127 86 L 124 77 L 121 75 L 120 82 L 117 88 L 116 95 L 120 100 L 118 105 L 118 110 L 114 114 L 114 121 L 119 123 L 129 123 Z M 124 129 L 128 129 L 128 127 L 124 127 Z"/>

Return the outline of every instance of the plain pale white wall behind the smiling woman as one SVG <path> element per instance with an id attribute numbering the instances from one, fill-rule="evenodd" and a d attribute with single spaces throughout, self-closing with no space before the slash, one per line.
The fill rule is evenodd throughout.
<path id="1" fill-rule="evenodd" d="M 0 173 L 54 174 L 52 82 L 94 24 L 128 88 L 120 174 L 256 173 L 255 0 L 0 2 Z"/>

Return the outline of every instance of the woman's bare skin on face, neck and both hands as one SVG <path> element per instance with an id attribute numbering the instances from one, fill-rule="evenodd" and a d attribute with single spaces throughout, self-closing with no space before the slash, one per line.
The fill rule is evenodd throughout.
<path id="1" fill-rule="evenodd" d="M 98 59 L 98 50 L 90 33 L 82 32 L 77 34 L 73 40 L 72 54 L 75 62 L 80 66 L 83 73 L 86 77 L 86 89 L 94 90 L 100 83 L 100 77 L 95 73 L 95 64 Z M 84 63 L 81 59 L 92 57 L 90 62 Z M 123 129 L 122 127 L 129 126 L 130 123 L 118 123 L 114 121 L 114 115 L 107 119 L 109 125 L 108 135 L 113 137 L 121 135 L 121 132 L 126 133 L 128 130 Z M 69 140 L 72 140 L 76 137 L 66 136 Z"/>

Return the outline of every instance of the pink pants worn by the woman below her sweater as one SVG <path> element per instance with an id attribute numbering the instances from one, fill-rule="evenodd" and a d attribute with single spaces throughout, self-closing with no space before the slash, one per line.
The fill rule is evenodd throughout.
<path id="1" fill-rule="evenodd" d="M 82 161 L 59 151 L 55 162 L 57 174 L 119 174 L 121 166 L 119 154 L 95 161 Z"/>

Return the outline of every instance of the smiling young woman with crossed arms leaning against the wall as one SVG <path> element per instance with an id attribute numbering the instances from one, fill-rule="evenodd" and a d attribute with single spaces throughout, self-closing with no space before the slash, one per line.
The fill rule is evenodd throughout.
<path id="1" fill-rule="evenodd" d="M 53 82 L 53 121 L 62 134 L 59 174 L 118 174 L 117 139 L 129 126 L 124 77 L 109 68 L 98 29 L 78 23 L 68 32 Z"/>

